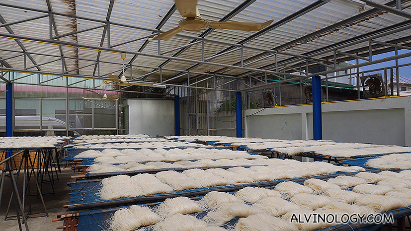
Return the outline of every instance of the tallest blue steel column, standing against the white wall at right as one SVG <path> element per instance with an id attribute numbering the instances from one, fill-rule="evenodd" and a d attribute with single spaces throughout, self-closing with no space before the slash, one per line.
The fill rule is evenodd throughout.
<path id="1" fill-rule="evenodd" d="M 323 139 L 323 121 L 321 116 L 321 77 L 313 76 L 313 131 L 314 140 Z"/>

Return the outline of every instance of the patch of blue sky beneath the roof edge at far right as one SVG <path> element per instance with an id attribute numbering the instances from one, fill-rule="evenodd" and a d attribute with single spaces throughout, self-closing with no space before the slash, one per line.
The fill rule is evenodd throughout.
<path id="1" fill-rule="evenodd" d="M 411 50 L 406 50 L 406 49 L 398 50 L 399 55 L 409 53 L 409 52 L 411 52 Z M 374 55 L 373 60 L 382 59 L 382 58 L 386 58 L 386 57 L 390 57 L 390 56 L 394 56 L 394 55 L 395 55 L 394 51 L 393 52 L 387 52 L 387 53 L 380 54 L 380 55 Z M 359 63 L 364 63 L 364 62 L 367 62 L 367 61 L 359 60 Z M 349 61 L 348 63 L 356 64 L 356 61 L 352 60 L 352 61 Z M 411 64 L 411 57 L 399 59 L 398 64 L 399 65 L 401 65 L 401 64 Z M 365 66 L 365 67 L 361 67 L 360 70 L 369 71 L 369 70 L 385 68 L 385 67 L 393 67 L 393 66 L 395 66 L 395 60 L 384 62 L 384 63 L 379 63 L 379 64 L 373 64 L 373 65 L 369 65 L 369 66 Z M 378 72 L 370 72 L 370 73 L 367 73 L 367 74 L 381 73 L 381 74 L 384 75 L 383 72 L 384 71 L 378 71 Z M 394 73 L 395 73 L 395 69 L 394 69 Z M 400 77 L 408 78 L 411 81 L 411 66 L 399 68 L 399 73 L 400 73 Z M 388 75 L 390 75 L 390 71 L 388 71 Z"/>

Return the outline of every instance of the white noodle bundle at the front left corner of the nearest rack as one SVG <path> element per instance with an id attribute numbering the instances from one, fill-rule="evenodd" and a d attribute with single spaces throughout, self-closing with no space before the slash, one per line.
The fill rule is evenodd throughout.
<path id="1" fill-rule="evenodd" d="M 161 218 L 147 207 L 132 205 L 128 208 L 117 210 L 108 221 L 109 231 L 132 231 L 142 226 L 154 225 Z"/>

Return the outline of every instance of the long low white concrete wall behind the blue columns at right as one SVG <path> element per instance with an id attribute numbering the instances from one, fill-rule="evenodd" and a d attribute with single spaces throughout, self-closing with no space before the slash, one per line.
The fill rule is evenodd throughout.
<path id="1" fill-rule="evenodd" d="M 245 137 L 313 139 L 311 104 L 259 110 L 244 111 Z M 322 111 L 324 140 L 411 146 L 410 96 L 323 103 Z"/>

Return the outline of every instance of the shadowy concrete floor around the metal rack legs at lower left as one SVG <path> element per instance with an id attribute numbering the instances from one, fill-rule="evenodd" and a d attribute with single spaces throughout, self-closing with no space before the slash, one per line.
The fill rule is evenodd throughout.
<path id="1" fill-rule="evenodd" d="M 62 172 L 59 173 L 59 181 L 54 182 L 54 190 L 56 194 L 52 194 L 52 188 L 50 183 L 43 183 L 43 192 L 46 194 L 43 196 L 46 209 L 48 212 L 48 217 L 38 217 L 38 218 L 28 218 L 27 225 L 30 231 L 55 231 L 57 227 L 63 226 L 63 222 L 52 222 L 54 218 L 57 218 L 57 215 L 61 214 L 68 214 L 70 213 L 66 209 L 63 208 L 63 205 L 68 204 L 69 201 L 69 193 L 70 187 L 67 186 L 68 181 L 72 181 L 70 179 L 70 175 L 73 174 L 73 170 L 70 167 L 61 169 Z M 21 196 L 22 188 L 23 188 L 23 178 L 21 176 L 18 179 L 18 189 Z M 35 194 L 35 181 L 34 178 L 30 181 L 30 188 L 31 193 Z M 0 206 L 0 231 L 18 231 L 18 224 L 17 220 L 8 220 L 4 221 L 5 213 L 7 209 L 7 204 L 11 195 L 12 187 L 10 178 L 8 176 L 5 177 L 4 181 L 4 189 L 3 195 L 1 199 L 1 206 Z M 50 194 L 51 193 L 51 194 Z M 28 196 L 26 197 L 28 200 Z M 41 213 L 44 212 L 43 205 L 41 203 L 40 198 L 37 199 L 36 196 L 31 196 L 31 206 L 32 206 L 32 213 Z M 28 209 L 28 201 L 26 201 L 26 211 Z M 12 202 L 12 206 L 10 209 L 9 216 L 15 215 L 14 209 L 14 201 Z M 24 225 L 22 225 L 22 230 L 25 230 Z"/>

